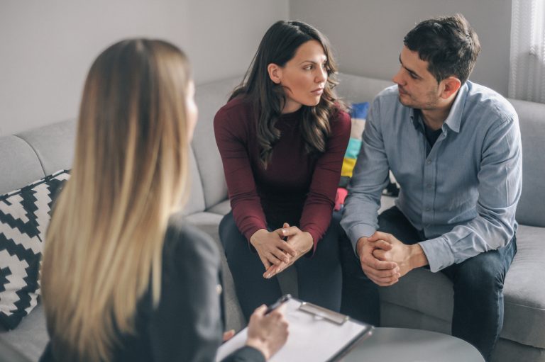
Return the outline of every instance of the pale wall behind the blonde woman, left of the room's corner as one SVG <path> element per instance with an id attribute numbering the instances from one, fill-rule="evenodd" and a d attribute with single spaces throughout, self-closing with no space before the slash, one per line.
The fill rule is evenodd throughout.
<path id="1" fill-rule="evenodd" d="M 1 0 L 0 135 L 75 118 L 99 52 L 127 37 L 163 38 L 197 83 L 246 71 L 289 0 Z"/>

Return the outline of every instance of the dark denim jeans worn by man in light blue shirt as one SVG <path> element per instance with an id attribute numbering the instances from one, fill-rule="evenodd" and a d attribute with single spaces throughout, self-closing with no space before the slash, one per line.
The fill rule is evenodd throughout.
<path id="1" fill-rule="evenodd" d="M 424 240 L 395 206 L 378 217 L 379 230 L 393 234 L 404 244 Z M 503 327 L 503 283 L 517 253 L 516 238 L 506 247 L 487 251 L 441 270 L 453 283 L 452 335 L 473 344 L 489 361 Z M 341 312 L 380 325 L 378 285 L 361 270 L 346 236 L 341 240 L 343 300 Z"/>

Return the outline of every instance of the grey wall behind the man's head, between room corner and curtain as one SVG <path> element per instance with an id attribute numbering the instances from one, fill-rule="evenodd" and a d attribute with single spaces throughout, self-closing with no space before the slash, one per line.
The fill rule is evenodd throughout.
<path id="1" fill-rule="evenodd" d="M 290 0 L 290 18 L 321 30 L 341 72 L 391 79 L 403 37 L 416 23 L 463 13 L 482 50 L 470 79 L 507 95 L 511 0 Z"/>

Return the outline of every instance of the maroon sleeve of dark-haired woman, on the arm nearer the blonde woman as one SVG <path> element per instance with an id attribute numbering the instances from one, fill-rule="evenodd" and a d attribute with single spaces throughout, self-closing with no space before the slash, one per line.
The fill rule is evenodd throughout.
<path id="1" fill-rule="evenodd" d="M 249 241 L 256 231 L 267 229 L 267 222 L 255 187 L 246 132 L 248 128 L 231 120 L 224 108 L 216 113 L 214 135 L 224 165 L 233 218 Z"/>

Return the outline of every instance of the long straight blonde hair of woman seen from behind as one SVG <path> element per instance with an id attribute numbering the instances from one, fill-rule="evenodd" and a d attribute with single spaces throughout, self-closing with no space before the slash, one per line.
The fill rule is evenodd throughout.
<path id="1" fill-rule="evenodd" d="M 48 229 L 41 288 L 58 361 L 108 361 L 139 298 L 160 298 L 167 221 L 187 198 L 189 64 L 124 40 L 85 82 L 70 180 Z"/>

